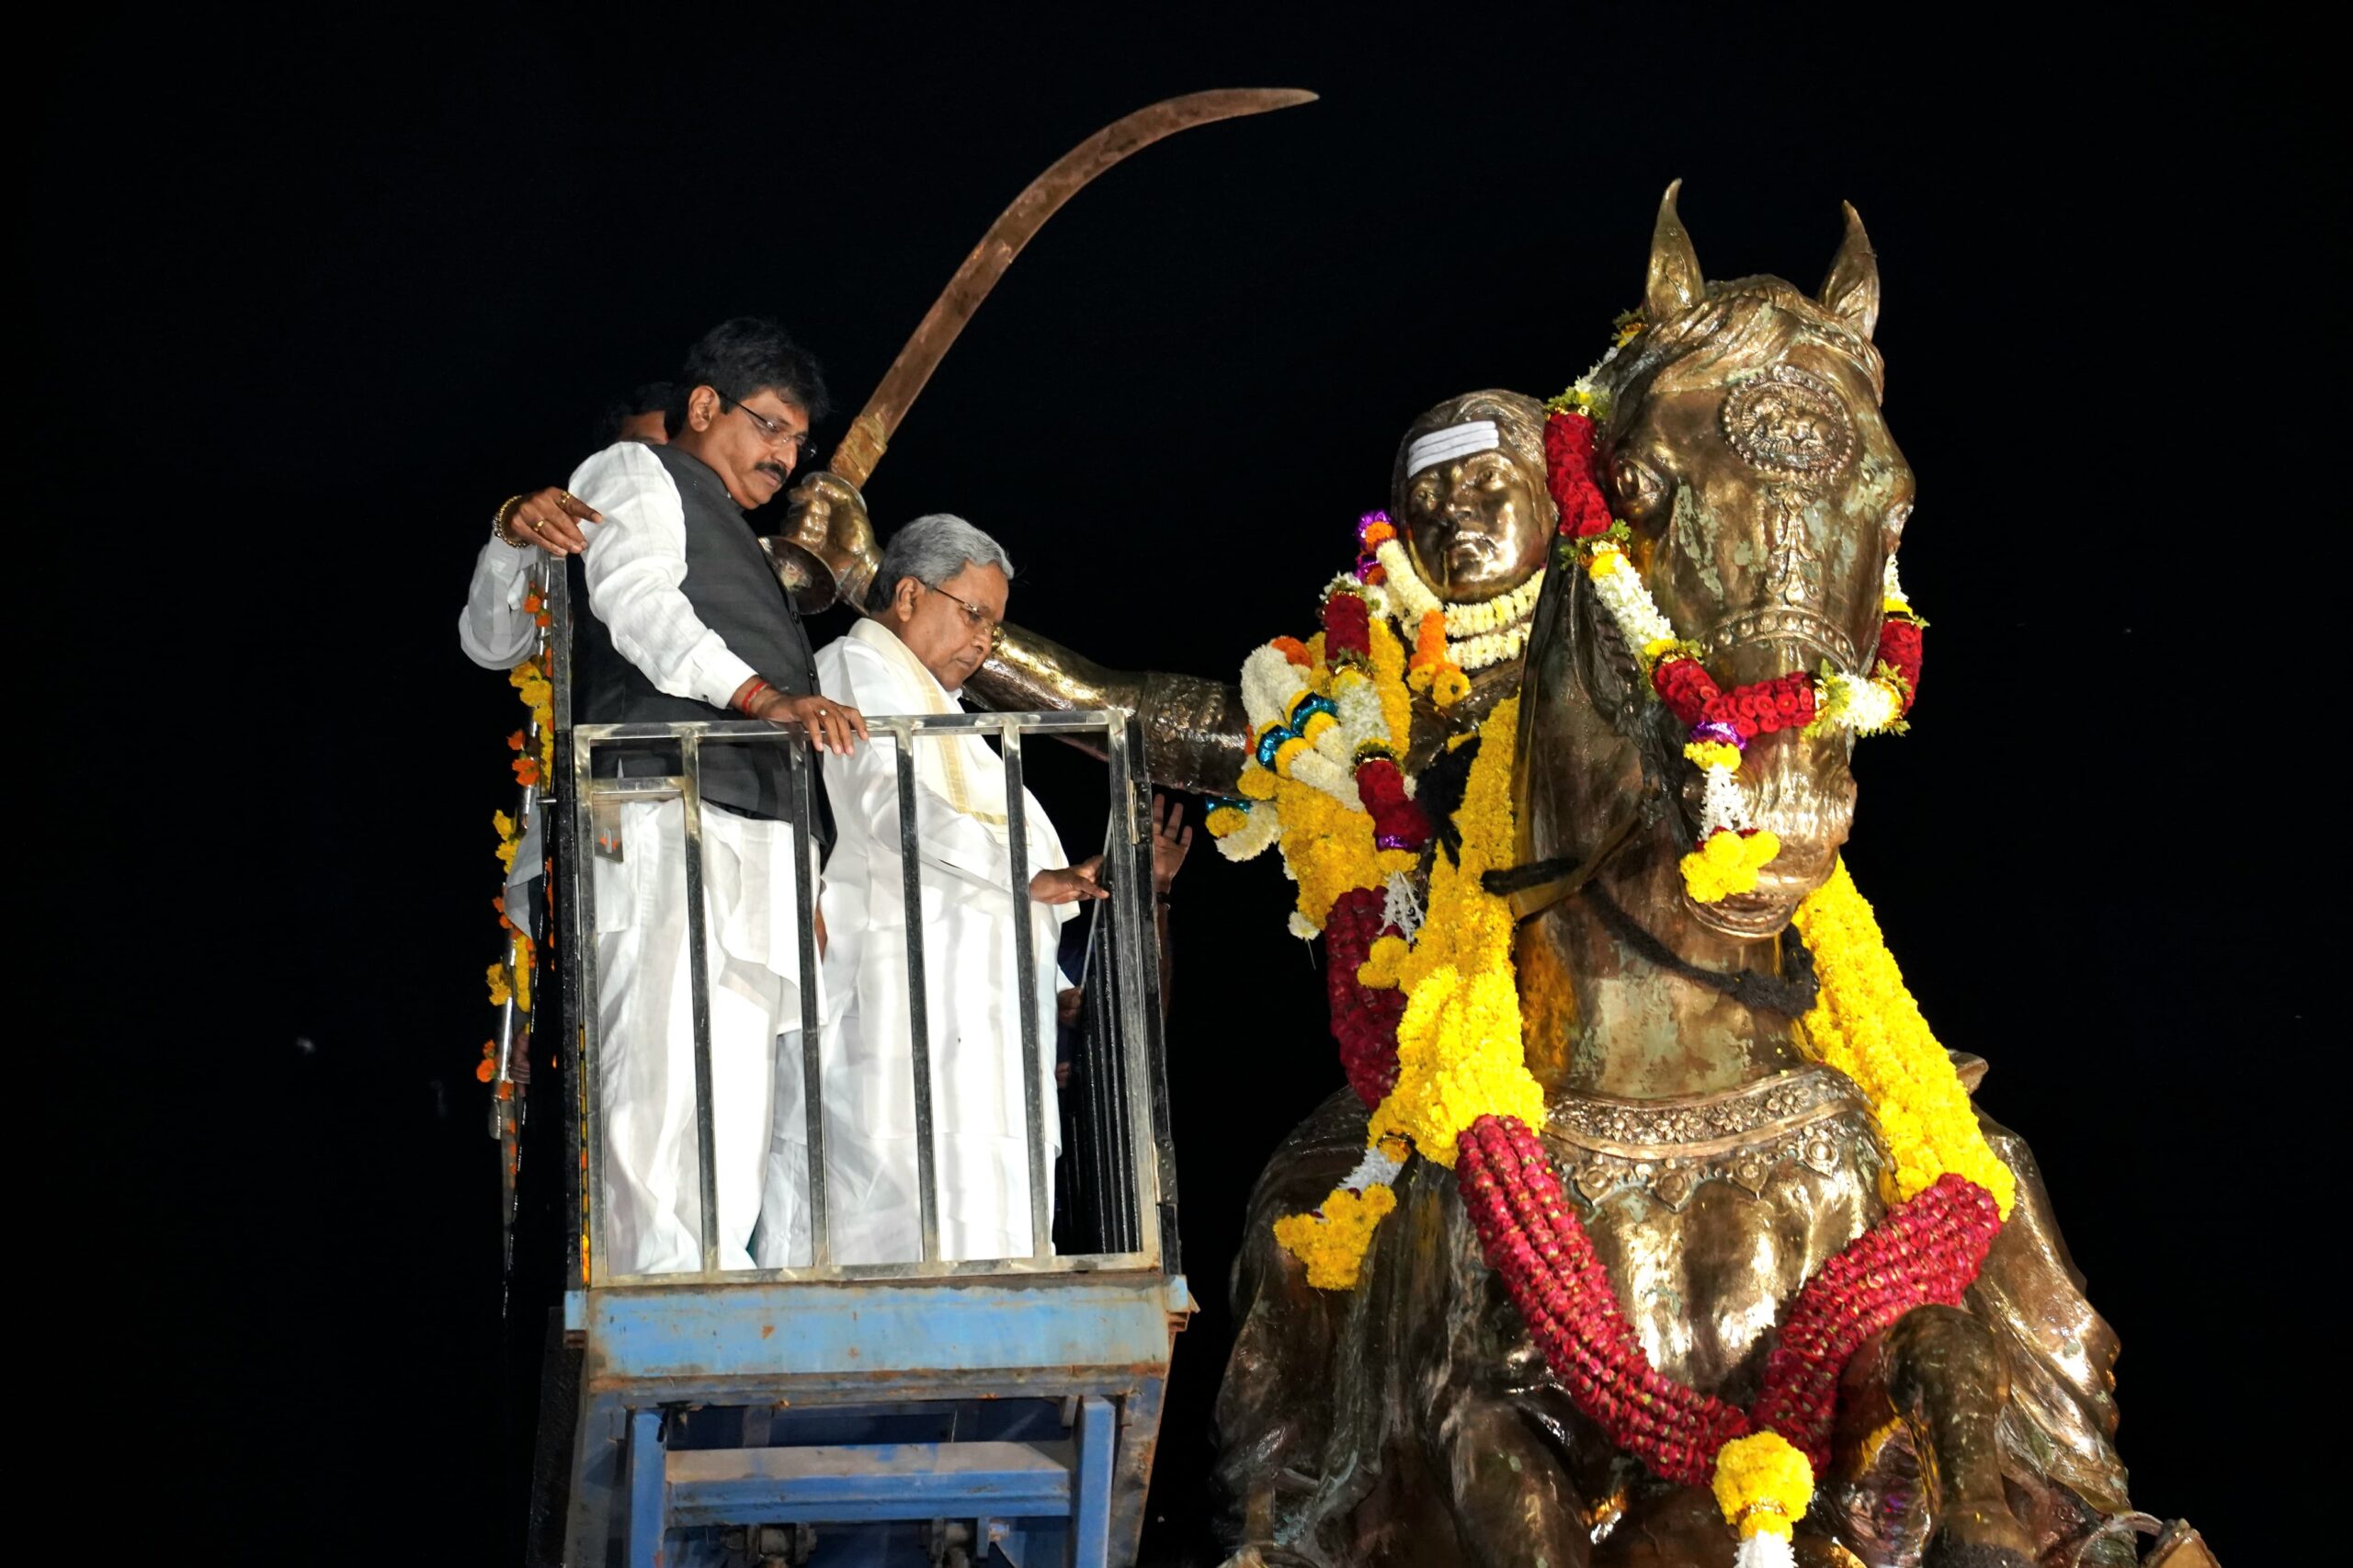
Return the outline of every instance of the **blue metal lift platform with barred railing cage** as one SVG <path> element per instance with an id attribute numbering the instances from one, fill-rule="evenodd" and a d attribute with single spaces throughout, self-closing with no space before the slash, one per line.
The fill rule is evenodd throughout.
<path id="1" fill-rule="evenodd" d="M 1005 888 L 1028 909 L 1033 826 L 1024 810 L 1024 744 L 1075 742 L 1106 763 L 1108 897 L 1085 946 L 1073 1071 L 1061 1095 L 1061 1158 L 1049 1154 L 1045 1078 L 1052 1017 L 1038 986 L 1016 984 L 1028 1255 L 946 1257 L 939 1224 L 936 1092 L 929 1024 L 955 1010 L 925 963 L 922 921 L 904 923 L 913 1064 L 918 1255 L 845 1264 L 826 1191 L 826 1104 L 819 986 L 800 986 L 798 1052 L 807 1262 L 727 1269 L 713 1107 L 706 963 L 704 770 L 748 749 L 784 756 L 788 817 L 814 824 L 824 782 L 807 737 L 767 723 L 574 725 L 572 596 L 562 570 L 534 574 L 551 685 L 555 768 L 522 786 L 529 824 L 508 888 L 525 942 L 536 935 L 539 984 L 499 1010 L 492 1043 L 492 1135 L 504 1149 L 508 1217 L 532 1041 L 562 1057 L 569 1158 L 562 1307 L 551 1323 L 529 1500 L 527 1561 L 567 1568 L 849 1568 L 1134 1563 L 1174 1335 L 1191 1297 L 1176 1248 L 1176 1172 L 1162 1055 L 1162 970 L 1151 895 L 1151 789 L 1141 730 L 1122 711 L 868 713 L 899 791 L 899 864 L 908 911 L 929 871 L 915 852 L 922 786 L 915 749 L 944 737 L 995 742 L 1005 768 Z M 598 636 L 593 622 L 588 636 Z M 539 746 L 536 725 L 527 746 Z M 626 753 L 628 768 L 607 758 Z M 647 758 L 656 758 L 647 765 Z M 626 775 L 626 777 L 624 777 Z M 701 1267 L 621 1274 L 607 1257 L 605 1104 L 598 1038 L 593 855 L 626 803 L 680 803 L 694 1031 L 694 1172 Z M 816 833 L 795 831 L 800 975 L 819 972 Z M 546 897 L 527 881 L 546 864 Z M 518 895 L 520 890 L 520 895 Z M 1014 975 L 1035 972 L 1028 918 L 1014 918 Z M 536 1012 L 536 1017 L 534 1017 Z M 546 1102 L 546 1095 L 541 1095 Z M 546 1114 L 546 1111 L 544 1111 Z M 534 1140 L 534 1149 L 546 1140 Z M 539 1156 L 544 1163 L 544 1156 Z M 536 1168 L 534 1168 L 536 1175 Z M 546 1172 L 553 1177 L 555 1172 Z M 1052 1194 L 1059 1194 L 1056 1205 Z"/>

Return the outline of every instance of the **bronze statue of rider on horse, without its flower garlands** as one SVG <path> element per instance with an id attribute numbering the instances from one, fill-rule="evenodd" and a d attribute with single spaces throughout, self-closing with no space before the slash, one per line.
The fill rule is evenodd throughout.
<path id="1" fill-rule="evenodd" d="M 1642 586 L 1725 690 L 1861 671 L 1859 652 L 1880 647 L 1913 473 L 1880 412 L 1878 301 L 1852 210 L 1807 297 L 1779 278 L 1704 280 L 1668 188 L 1640 332 L 1595 372 L 1593 459 Z M 1492 426 L 1485 478 L 1454 466 L 1452 485 L 1409 483 L 1405 452 L 1466 421 Z M 1447 603 L 1532 582 L 1558 523 L 1544 410 L 1471 393 L 1417 419 L 1393 513 Z M 854 553 L 864 518 L 835 532 Z M 1746 742 L 1753 826 L 1779 852 L 1753 888 L 1701 902 L 1678 871 L 1701 777 L 1588 577 L 1548 570 L 1525 636 L 1525 659 L 1475 671 L 1452 704 L 1417 695 L 1400 765 L 1421 775 L 1518 699 L 1513 862 L 1551 869 L 1515 885 L 1537 1135 L 1647 1363 L 1746 1408 L 1800 1285 L 1889 1212 L 1868 1097 L 1805 1048 L 1812 991 L 1788 932 L 1852 824 L 1852 732 Z M 1231 796 L 1252 760 L 1233 685 L 1104 671 L 1014 629 L 972 690 L 1005 709 L 1129 706 L 1162 784 Z M 1986 1071 L 1960 1052 L 1953 1067 L 1969 1090 Z M 1732 1563 L 1718 1500 L 1645 1467 L 1579 1406 L 1445 1168 L 1414 1158 L 1395 1177 L 1353 1290 L 1313 1288 L 1275 1243 L 1273 1220 L 1313 1210 L 1365 1156 L 1365 1107 L 1337 1092 L 1252 1196 L 1217 1413 L 1231 1561 Z M 1984 1111 L 1977 1125 L 2014 1177 L 2007 1222 L 1958 1304 L 1913 1307 L 1847 1358 L 1798 1563 L 2122 1566 L 2141 1561 L 2134 1535 L 2160 1528 L 2127 1502 L 2115 1337 L 2033 1156 Z M 2146 1561 L 2212 1556 L 2177 1523 Z"/>

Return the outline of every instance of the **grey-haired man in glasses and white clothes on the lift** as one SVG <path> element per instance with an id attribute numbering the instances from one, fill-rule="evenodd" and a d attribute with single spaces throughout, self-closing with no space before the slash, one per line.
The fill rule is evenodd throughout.
<path id="1" fill-rule="evenodd" d="M 958 713 L 1005 619 L 1012 560 L 962 518 L 901 527 L 882 556 L 868 614 L 816 655 L 828 692 L 868 713 Z M 906 928 L 920 921 L 932 1052 L 939 1255 L 1031 1255 L 1021 989 L 1035 1001 L 1047 1170 L 1054 1104 L 1056 923 L 1106 897 L 1101 857 L 1068 864 L 1054 824 L 1024 791 L 1028 864 L 1014 876 L 1005 770 L 976 735 L 913 742 L 915 857 L 922 909 L 908 911 L 899 852 L 899 777 L 885 735 L 824 763 L 838 838 L 826 864 L 824 1036 L 826 1229 L 833 1262 L 920 1257 L 915 1069 Z M 1026 888 L 1016 913 L 1012 890 Z M 1014 921 L 1033 925 L 1035 965 L 1014 970 Z M 800 1074 L 776 1076 L 762 1196 L 762 1267 L 809 1262 L 807 1144 Z"/>

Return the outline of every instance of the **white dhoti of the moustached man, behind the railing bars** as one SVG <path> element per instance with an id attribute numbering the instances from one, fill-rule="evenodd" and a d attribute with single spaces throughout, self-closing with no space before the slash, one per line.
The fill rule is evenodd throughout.
<path id="1" fill-rule="evenodd" d="M 798 843 L 791 824 L 704 805 L 720 1269 L 753 1267 L 776 1031 L 800 1017 Z M 675 1274 L 704 1264 L 685 808 L 626 803 L 621 855 L 593 862 L 605 1262 Z"/>

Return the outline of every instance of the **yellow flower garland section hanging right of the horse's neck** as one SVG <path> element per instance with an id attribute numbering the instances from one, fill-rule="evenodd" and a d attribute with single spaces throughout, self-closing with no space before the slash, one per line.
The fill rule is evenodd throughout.
<path id="1" fill-rule="evenodd" d="M 1993 1194 L 2009 1217 L 2017 1177 L 1993 1154 L 1977 1128 L 1969 1092 L 1951 1057 L 1920 1017 L 1920 1003 L 1904 986 L 1904 972 L 1887 951 L 1871 904 L 1854 890 L 1847 862 L 1831 881 L 1798 904 L 1798 935 L 1814 951 L 1821 996 L 1805 1015 L 1805 1034 L 1817 1057 L 1871 1097 L 1871 1109 L 1894 1161 L 1897 1201 L 1925 1191 L 1944 1172 L 1958 1172 Z"/>

